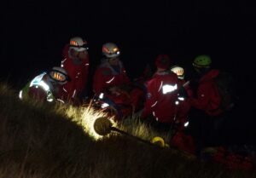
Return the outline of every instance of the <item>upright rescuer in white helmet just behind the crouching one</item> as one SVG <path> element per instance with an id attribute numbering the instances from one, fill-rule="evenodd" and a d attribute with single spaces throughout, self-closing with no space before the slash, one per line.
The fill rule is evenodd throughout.
<path id="1" fill-rule="evenodd" d="M 81 37 L 72 37 L 62 51 L 64 60 L 61 67 L 66 69 L 71 81 L 63 87 L 67 91 L 67 99 L 74 105 L 82 102 L 86 93 L 90 58 L 88 43 Z"/>

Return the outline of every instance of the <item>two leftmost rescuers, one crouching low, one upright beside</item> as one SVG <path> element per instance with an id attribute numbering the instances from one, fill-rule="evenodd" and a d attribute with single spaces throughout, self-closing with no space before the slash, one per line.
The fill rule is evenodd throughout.
<path id="1" fill-rule="evenodd" d="M 77 104 L 84 91 L 89 72 L 87 42 L 81 37 L 73 37 L 65 45 L 61 66 L 39 74 L 20 90 L 20 99 L 69 102 Z M 49 100 L 49 94 L 52 95 Z"/>

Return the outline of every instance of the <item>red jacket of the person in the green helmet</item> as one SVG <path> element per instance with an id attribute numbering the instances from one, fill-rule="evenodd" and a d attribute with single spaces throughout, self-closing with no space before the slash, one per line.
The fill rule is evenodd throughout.
<path id="1" fill-rule="evenodd" d="M 203 110 L 209 116 L 217 116 L 222 113 L 222 110 L 219 109 L 221 98 L 218 95 L 217 86 L 213 82 L 213 78 L 216 78 L 218 73 L 218 70 L 212 69 L 201 77 L 196 98 L 189 98 L 191 106 Z"/>

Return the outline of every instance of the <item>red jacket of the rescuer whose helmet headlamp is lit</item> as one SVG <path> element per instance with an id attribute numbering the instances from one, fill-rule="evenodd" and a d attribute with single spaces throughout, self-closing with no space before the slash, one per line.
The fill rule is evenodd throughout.
<path id="1" fill-rule="evenodd" d="M 119 71 L 115 72 L 113 67 L 109 65 L 107 60 L 103 60 L 102 64 L 96 69 L 93 78 L 93 90 L 98 95 L 105 93 L 113 86 L 131 84 L 130 79 L 126 75 L 125 67 L 119 61 Z"/>

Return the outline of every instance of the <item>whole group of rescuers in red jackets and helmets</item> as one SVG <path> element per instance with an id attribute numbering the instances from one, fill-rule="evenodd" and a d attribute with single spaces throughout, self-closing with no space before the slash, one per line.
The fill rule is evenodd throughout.
<path id="1" fill-rule="evenodd" d="M 72 37 L 62 55 L 61 66 L 54 66 L 49 72 L 33 78 L 20 91 L 20 98 L 61 100 L 74 105 L 82 102 L 90 69 L 88 43 L 81 37 Z M 199 55 L 193 60 L 197 72 L 197 78 L 193 80 L 196 89 L 189 87 L 183 67 L 172 64 L 168 55 L 156 57 L 156 71 L 150 78 L 144 78 L 141 87 L 135 87 L 128 77 L 115 43 L 104 43 L 102 55 L 101 64 L 92 78 L 95 95 L 105 95 L 116 104 L 125 103 L 131 106 L 132 112 L 141 111 L 140 118 L 149 121 L 160 132 L 168 132 L 173 125 L 183 132 L 189 121 L 195 128 L 191 135 L 196 152 L 211 144 L 207 139 L 218 137 L 225 113 L 213 82 L 219 71 L 212 69 L 209 55 Z"/>

